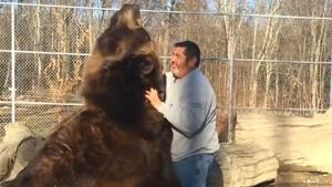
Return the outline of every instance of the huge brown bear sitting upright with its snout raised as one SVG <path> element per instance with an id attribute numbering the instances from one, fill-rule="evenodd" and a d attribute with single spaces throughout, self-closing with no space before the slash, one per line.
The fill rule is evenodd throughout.
<path id="1" fill-rule="evenodd" d="M 59 124 L 37 157 L 2 187 L 178 187 L 170 125 L 144 96 L 149 87 L 160 90 L 160 80 L 139 8 L 125 4 L 87 60 L 84 107 Z"/>

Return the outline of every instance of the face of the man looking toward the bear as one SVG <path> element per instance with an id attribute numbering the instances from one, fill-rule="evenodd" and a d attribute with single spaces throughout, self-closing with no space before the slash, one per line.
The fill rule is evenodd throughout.
<path id="1" fill-rule="evenodd" d="M 177 79 L 184 77 L 195 69 L 195 58 L 187 60 L 185 48 L 176 46 L 172 51 L 170 71 Z"/>

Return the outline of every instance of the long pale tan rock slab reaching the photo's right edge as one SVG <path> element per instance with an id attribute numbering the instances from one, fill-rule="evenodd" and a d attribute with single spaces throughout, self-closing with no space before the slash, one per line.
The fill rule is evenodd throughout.
<path id="1" fill-rule="evenodd" d="M 332 174 L 332 112 L 312 117 L 239 115 L 237 142 L 273 150 L 280 170 Z"/>

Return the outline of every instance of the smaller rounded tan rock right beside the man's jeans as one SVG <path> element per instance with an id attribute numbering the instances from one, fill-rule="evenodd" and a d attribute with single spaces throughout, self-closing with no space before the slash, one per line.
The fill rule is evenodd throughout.
<path id="1" fill-rule="evenodd" d="M 274 154 L 256 143 L 222 143 L 216 158 L 219 167 L 212 166 L 208 187 L 249 187 L 277 178 Z"/>

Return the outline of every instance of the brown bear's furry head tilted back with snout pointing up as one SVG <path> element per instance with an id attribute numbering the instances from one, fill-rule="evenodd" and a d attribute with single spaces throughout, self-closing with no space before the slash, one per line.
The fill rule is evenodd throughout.
<path id="1" fill-rule="evenodd" d="M 160 90 L 162 64 L 155 49 L 142 25 L 139 8 L 123 6 L 87 61 L 82 92 L 86 106 L 102 108 L 117 120 L 138 117 L 148 103 L 145 91 Z"/>

